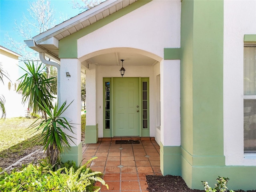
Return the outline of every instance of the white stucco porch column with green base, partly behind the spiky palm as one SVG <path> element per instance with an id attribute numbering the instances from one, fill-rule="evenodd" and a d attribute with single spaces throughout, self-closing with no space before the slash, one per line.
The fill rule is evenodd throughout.
<path id="1" fill-rule="evenodd" d="M 66 73 L 70 74 L 70 77 Z M 79 165 L 82 162 L 82 143 L 81 143 L 81 63 L 78 59 L 60 60 L 60 94 L 59 105 L 67 102 L 70 106 L 62 114 L 74 127 L 71 132 L 65 131 L 74 137 L 70 141 L 71 150 L 61 154 L 62 162 L 73 160 Z"/>

